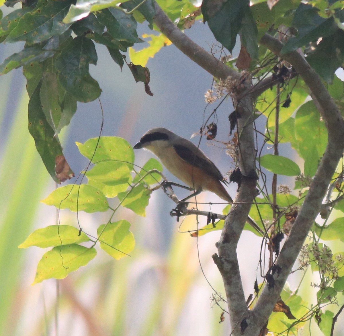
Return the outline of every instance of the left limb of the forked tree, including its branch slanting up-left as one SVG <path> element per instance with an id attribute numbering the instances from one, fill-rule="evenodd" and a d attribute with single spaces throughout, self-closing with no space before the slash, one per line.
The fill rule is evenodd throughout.
<path id="1" fill-rule="evenodd" d="M 236 110 L 241 116 L 238 119 L 238 133 L 240 139 L 239 166 L 240 171 L 245 177 L 236 196 L 236 202 L 239 202 L 239 204 L 232 206 L 230 213 L 226 217 L 221 238 L 216 245 L 218 248 L 218 256 L 213 256 L 223 278 L 232 327 L 234 328 L 237 326 L 233 335 L 240 335 L 238 323 L 240 325 L 240 322 L 244 318 L 248 318 L 250 312 L 247 310 L 236 248 L 251 207 L 251 202 L 256 196 L 256 178 L 254 174 L 256 152 L 252 124 L 254 99 L 251 94 L 243 95 L 245 92 L 249 92 L 252 86 L 250 80 L 244 78 L 240 79 L 240 74 L 238 72 L 228 68 L 191 41 L 189 37 L 182 33 L 173 22 L 169 20 L 157 4 L 155 4 L 155 9 L 155 23 L 161 32 L 168 37 L 177 48 L 214 77 L 226 79 L 228 76 L 232 76 L 233 79 L 236 79 L 238 83 L 240 83 L 238 86 L 242 86 L 241 88 L 238 87 L 237 95 L 237 97 L 241 98 L 234 100 Z"/>

